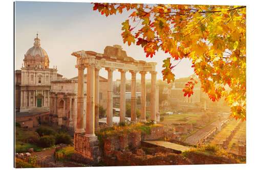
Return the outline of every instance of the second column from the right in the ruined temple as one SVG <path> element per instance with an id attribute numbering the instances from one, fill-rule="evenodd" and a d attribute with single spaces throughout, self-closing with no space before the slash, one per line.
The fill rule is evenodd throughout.
<path id="1" fill-rule="evenodd" d="M 140 122 L 146 122 L 146 71 L 140 71 L 141 74 L 141 98 L 140 98 Z"/>

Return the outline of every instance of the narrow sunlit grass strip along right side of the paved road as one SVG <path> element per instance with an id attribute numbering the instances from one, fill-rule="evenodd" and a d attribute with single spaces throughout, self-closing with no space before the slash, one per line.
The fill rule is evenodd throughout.
<path id="1" fill-rule="evenodd" d="M 231 121 L 227 124 L 225 128 L 223 128 L 217 135 L 214 136 L 214 140 L 211 143 L 221 143 L 223 140 L 226 139 L 231 133 L 231 131 L 238 126 L 241 120 L 231 119 Z"/>

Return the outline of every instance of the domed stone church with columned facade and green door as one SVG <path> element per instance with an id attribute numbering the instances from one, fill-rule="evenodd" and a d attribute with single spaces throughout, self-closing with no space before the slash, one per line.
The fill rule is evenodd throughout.
<path id="1" fill-rule="evenodd" d="M 15 83 L 20 81 L 20 101 L 16 103 L 16 111 L 19 110 L 20 113 L 49 111 L 50 83 L 52 80 L 61 80 L 62 75 L 57 74 L 57 67 L 49 68 L 49 57 L 40 46 L 38 34 L 34 39 L 34 46 L 29 48 L 24 56 L 21 71 L 15 71 L 15 77 L 19 77 Z M 21 75 L 17 76 L 17 74 Z"/>

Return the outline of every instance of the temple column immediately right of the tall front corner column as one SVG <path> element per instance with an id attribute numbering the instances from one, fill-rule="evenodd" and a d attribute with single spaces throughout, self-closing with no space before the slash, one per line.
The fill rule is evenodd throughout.
<path id="1" fill-rule="evenodd" d="M 95 68 L 95 129 L 99 128 L 99 70 L 100 67 Z"/>

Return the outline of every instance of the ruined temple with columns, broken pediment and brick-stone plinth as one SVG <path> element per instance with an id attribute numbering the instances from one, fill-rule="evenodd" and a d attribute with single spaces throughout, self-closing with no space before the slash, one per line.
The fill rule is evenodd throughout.
<path id="1" fill-rule="evenodd" d="M 100 152 L 98 139 L 94 134 L 98 127 L 99 115 L 99 70 L 105 67 L 108 70 L 108 103 L 106 124 L 113 126 L 113 71 L 121 72 L 120 84 L 120 122 L 125 121 L 125 73 L 132 74 L 132 101 L 131 122 L 136 122 L 136 73 L 141 74 L 141 122 L 146 122 L 146 85 L 145 74 L 151 73 L 151 119 L 157 121 L 157 98 L 156 98 L 156 62 L 137 61 L 128 57 L 120 45 L 106 46 L 104 54 L 92 51 L 78 51 L 72 53 L 77 57 L 76 68 L 78 69 L 78 93 L 77 93 L 77 126 L 74 134 L 74 147 L 77 157 L 87 159 L 89 162 L 99 162 Z M 87 68 L 87 110 L 86 125 L 83 124 L 83 75 Z M 85 128 L 85 130 L 84 130 Z"/>

